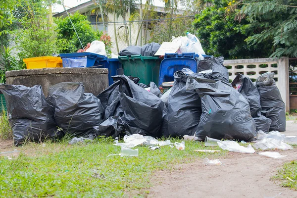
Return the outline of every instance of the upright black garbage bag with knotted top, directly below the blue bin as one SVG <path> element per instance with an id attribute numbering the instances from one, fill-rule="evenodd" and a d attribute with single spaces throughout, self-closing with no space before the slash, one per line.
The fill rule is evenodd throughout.
<path id="1" fill-rule="evenodd" d="M 191 75 L 193 78 L 203 78 L 203 74 Z M 193 136 L 197 130 L 202 113 L 201 100 L 196 91 L 186 90 L 189 76 L 182 71 L 174 73 L 175 79 L 167 103 L 168 134 L 163 132 L 165 137 Z"/>

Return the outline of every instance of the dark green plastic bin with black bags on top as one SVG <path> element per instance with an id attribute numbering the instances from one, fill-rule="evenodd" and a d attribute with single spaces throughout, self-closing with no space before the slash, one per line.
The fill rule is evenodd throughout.
<path id="1" fill-rule="evenodd" d="M 140 78 L 139 83 L 148 85 L 150 81 L 156 85 L 159 83 L 159 71 L 161 59 L 154 56 L 131 55 L 119 56 L 123 65 L 123 73 L 126 76 Z"/>

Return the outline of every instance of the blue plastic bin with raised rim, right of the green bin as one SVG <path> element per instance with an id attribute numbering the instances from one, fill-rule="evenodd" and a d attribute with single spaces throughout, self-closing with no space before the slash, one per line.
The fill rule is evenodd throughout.
<path id="1" fill-rule="evenodd" d="M 162 85 L 163 82 L 174 81 L 174 72 L 182 70 L 185 67 L 196 73 L 197 61 L 195 57 L 197 56 L 198 54 L 195 53 L 183 53 L 180 55 L 177 53 L 165 53 L 164 59 L 160 65 L 158 85 Z"/>

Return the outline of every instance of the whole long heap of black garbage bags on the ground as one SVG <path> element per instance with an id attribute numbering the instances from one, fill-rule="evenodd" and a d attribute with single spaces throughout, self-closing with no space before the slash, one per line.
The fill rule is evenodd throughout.
<path id="1" fill-rule="evenodd" d="M 198 73 L 174 74 L 164 95 L 151 82 L 113 76 L 114 84 L 99 96 L 85 93 L 82 83 L 59 83 L 45 98 L 40 85 L 0 84 L 16 146 L 24 142 L 76 137 L 142 134 L 152 137 L 197 136 L 252 141 L 256 131 L 285 131 L 285 104 L 265 73 L 254 84 L 239 74 L 230 84 L 223 57 L 198 61 Z"/>

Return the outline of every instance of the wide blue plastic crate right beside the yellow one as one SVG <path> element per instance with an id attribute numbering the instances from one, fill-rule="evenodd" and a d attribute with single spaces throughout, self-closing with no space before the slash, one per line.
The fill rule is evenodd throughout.
<path id="1" fill-rule="evenodd" d="M 63 60 L 63 67 L 93 67 L 93 66 L 99 65 L 98 61 L 100 59 L 105 58 L 104 55 L 91 53 L 91 52 L 60 53 L 60 57 Z M 69 59 L 73 59 L 73 60 L 71 61 Z M 87 62 L 85 62 L 85 59 L 87 59 Z"/>

